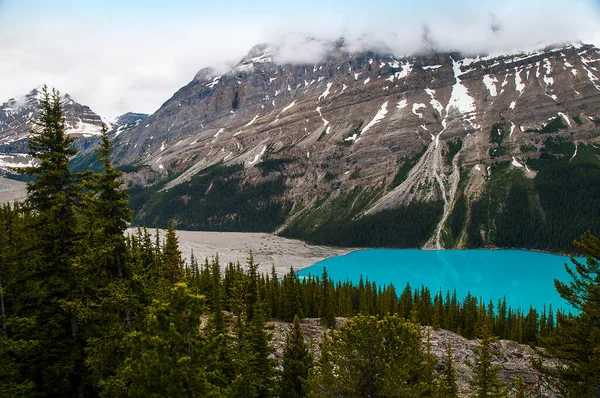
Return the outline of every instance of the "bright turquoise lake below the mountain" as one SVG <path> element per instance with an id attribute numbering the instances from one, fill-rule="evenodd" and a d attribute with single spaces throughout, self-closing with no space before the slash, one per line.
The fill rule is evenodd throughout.
<path id="1" fill-rule="evenodd" d="M 359 250 L 332 257 L 298 271 L 320 276 L 323 267 L 334 281 L 358 283 L 361 275 L 378 286 L 394 284 L 397 294 L 406 283 L 426 286 L 434 295 L 440 288 L 456 289 L 459 299 L 468 292 L 487 303 L 506 297 L 513 308 L 571 310 L 554 289 L 554 279 L 570 281 L 564 264 L 569 257 L 525 250 Z"/>

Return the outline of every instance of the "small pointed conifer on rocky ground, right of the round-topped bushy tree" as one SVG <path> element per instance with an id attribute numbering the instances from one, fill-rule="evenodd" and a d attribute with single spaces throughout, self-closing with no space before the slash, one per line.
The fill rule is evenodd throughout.
<path id="1" fill-rule="evenodd" d="M 506 386 L 498 374 L 500 369 L 493 365 L 494 342 L 496 338 L 490 334 L 487 326 L 480 331 L 479 346 L 475 347 L 475 362 L 467 363 L 473 370 L 474 378 L 469 382 L 475 398 L 504 398 L 508 396 Z"/>

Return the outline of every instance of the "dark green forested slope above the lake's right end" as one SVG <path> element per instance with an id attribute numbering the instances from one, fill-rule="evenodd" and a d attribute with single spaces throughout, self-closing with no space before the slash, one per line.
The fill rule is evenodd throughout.
<path id="1" fill-rule="evenodd" d="M 542 156 L 529 159 L 535 179 L 507 163 L 492 168 L 479 201 L 472 204 L 468 247 L 495 245 L 571 253 L 573 236 L 600 233 L 600 150 L 547 140 Z M 484 231 L 482 236 L 481 231 Z"/>

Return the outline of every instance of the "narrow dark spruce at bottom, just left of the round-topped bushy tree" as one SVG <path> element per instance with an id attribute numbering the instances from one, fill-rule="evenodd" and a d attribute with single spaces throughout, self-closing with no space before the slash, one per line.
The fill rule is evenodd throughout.
<path id="1" fill-rule="evenodd" d="M 288 331 L 283 348 L 282 397 L 301 398 L 306 396 L 304 383 L 308 378 L 312 361 L 312 354 L 304 341 L 300 319 L 296 316 L 292 328 Z"/>

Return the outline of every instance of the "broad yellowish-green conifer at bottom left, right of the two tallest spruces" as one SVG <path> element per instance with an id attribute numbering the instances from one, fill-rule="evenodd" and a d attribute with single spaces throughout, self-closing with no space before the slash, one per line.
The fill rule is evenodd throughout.
<path id="1" fill-rule="evenodd" d="M 216 360 L 200 334 L 204 297 L 176 283 L 148 309 L 143 328 L 127 336 L 130 351 L 107 396 L 219 396 Z"/>

